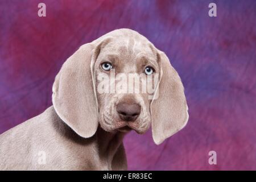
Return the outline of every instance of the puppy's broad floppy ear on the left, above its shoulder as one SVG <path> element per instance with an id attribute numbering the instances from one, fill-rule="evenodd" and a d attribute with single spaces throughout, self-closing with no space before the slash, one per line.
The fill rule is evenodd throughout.
<path id="1" fill-rule="evenodd" d="M 65 61 L 52 88 L 56 113 L 84 138 L 92 137 L 98 127 L 93 67 L 99 52 L 91 43 L 81 46 Z"/>

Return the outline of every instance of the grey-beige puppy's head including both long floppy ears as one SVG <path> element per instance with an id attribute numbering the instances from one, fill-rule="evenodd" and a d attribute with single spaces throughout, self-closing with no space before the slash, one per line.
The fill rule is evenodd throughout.
<path id="1" fill-rule="evenodd" d="M 185 126 L 187 104 L 179 75 L 138 32 L 115 30 L 85 44 L 64 63 L 53 84 L 53 106 L 77 134 L 97 130 L 142 134 L 156 144 Z"/>

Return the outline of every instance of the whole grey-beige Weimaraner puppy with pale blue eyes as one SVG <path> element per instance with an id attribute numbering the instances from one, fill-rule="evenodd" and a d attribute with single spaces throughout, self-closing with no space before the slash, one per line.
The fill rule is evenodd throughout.
<path id="1" fill-rule="evenodd" d="M 158 74 L 152 99 L 147 92 L 99 92 L 100 76 L 110 77 L 113 69 L 114 76 Z M 125 170 L 126 133 L 143 134 L 151 126 L 160 144 L 188 121 L 183 84 L 168 57 L 129 29 L 81 46 L 52 90 L 53 106 L 0 135 L 0 169 Z"/>

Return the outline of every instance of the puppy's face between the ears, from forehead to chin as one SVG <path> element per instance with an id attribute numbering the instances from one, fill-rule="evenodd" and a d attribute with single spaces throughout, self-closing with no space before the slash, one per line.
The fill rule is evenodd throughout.
<path id="1" fill-rule="evenodd" d="M 101 127 L 145 133 L 151 125 L 150 96 L 154 94 L 148 88 L 155 89 L 159 74 L 150 44 L 134 38 L 110 40 L 101 48 L 94 73 Z"/>

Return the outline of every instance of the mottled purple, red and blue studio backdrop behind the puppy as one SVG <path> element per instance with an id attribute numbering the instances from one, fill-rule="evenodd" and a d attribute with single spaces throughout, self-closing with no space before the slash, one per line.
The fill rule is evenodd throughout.
<path id="1" fill-rule="evenodd" d="M 38 3 L 47 17 L 38 17 Z M 210 2 L 217 18 L 208 16 Z M 256 1 L 0 1 L 0 133 L 52 105 L 54 77 L 84 43 L 131 28 L 166 52 L 188 125 L 160 146 L 125 138 L 129 169 L 256 169 Z M 208 152 L 217 152 L 209 165 Z"/>

